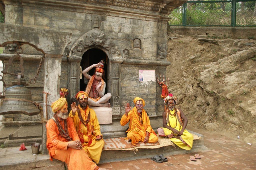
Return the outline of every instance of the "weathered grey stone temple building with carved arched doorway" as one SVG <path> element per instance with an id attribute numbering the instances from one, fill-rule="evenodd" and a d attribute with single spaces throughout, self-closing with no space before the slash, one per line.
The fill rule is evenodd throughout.
<path id="1" fill-rule="evenodd" d="M 156 130 L 162 124 L 164 111 L 163 99 L 160 98 L 162 88 L 155 80 L 139 81 L 139 70 L 154 70 L 155 76 L 159 73 L 165 75 L 166 66 L 170 65 L 166 60 L 168 14 L 185 2 L 0 0 L 1 12 L 5 15 L 5 23 L 0 23 L 0 46 L 4 47 L 0 59 L 5 67 L 15 53 L 17 42 L 24 44 L 21 56 L 25 87 L 31 90 L 32 100 L 40 103 L 46 102 L 42 92 L 50 93 L 48 119 L 52 116 L 49 105 L 59 98 L 60 88 L 69 89 L 69 101 L 88 83 L 81 69 L 103 59 L 106 92 L 112 94 L 110 115 L 103 117 L 111 117 L 111 122 L 101 124 L 104 137 L 124 135 L 127 127 L 121 127 L 119 121 L 124 114 L 124 104 L 129 102 L 134 106 L 135 97 L 145 100 L 145 110 Z M 31 84 L 29 80 L 35 77 L 41 58 L 42 67 L 36 82 Z M 13 61 L 8 71 L 19 73 L 19 64 L 19 60 Z M 93 71 L 89 74 L 92 75 Z M 6 87 L 13 86 L 14 79 L 15 76 L 5 74 Z M 44 106 L 44 117 L 45 110 Z M 7 114 L 3 117 L 3 124 L 5 128 L 31 127 L 40 125 L 40 120 L 40 114 Z M 17 129 L 11 133 L 18 139 Z M 40 139 L 38 133 L 28 136 Z M 0 140 L 11 139 L 8 135 Z"/>

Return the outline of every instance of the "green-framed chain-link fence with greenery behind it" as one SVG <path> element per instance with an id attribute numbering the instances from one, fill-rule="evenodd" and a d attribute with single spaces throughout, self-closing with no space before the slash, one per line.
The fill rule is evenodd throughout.
<path id="1" fill-rule="evenodd" d="M 255 1 L 187 1 L 172 11 L 169 25 L 256 26 Z"/>

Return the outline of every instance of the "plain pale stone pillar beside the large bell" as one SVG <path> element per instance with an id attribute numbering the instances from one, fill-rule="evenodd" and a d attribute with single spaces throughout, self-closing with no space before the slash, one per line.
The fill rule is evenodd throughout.
<path id="1" fill-rule="evenodd" d="M 50 93 L 47 97 L 48 119 L 50 119 L 54 115 L 51 111 L 51 103 L 60 97 L 61 55 L 46 54 L 44 66 L 44 92 Z M 44 104 L 46 104 L 45 94 L 43 96 L 43 101 Z M 46 118 L 46 106 L 44 106 L 44 118 Z M 42 123 L 42 154 L 48 154 L 46 148 L 47 136 L 45 125 L 46 123 Z"/>

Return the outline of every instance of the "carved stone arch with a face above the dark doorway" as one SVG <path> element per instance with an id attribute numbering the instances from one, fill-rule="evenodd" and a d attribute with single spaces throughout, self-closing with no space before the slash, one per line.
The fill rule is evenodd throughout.
<path id="1" fill-rule="evenodd" d="M 82 57 L 83 53 L 91 48 L 98 48 L 103 50 L 108 57 L 122 58 L 121 50 L 115 45 L 111 38 L 98 29 L 92 29 L 79 37 L 71 47 L 69 56 Z"/>

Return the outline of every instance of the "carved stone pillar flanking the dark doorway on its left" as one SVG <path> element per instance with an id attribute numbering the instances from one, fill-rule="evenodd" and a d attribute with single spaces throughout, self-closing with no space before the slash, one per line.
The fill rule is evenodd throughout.
<path id="1" fill-rule="evenodd" d="M 69 56 L 68 64 L 68 89 L 70 98 L 76 96 L 80 89 L 80 62 L 82 58 L 77 56 Z"/>

